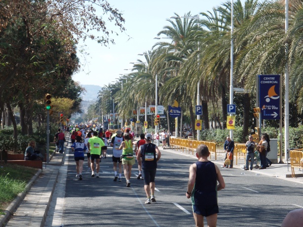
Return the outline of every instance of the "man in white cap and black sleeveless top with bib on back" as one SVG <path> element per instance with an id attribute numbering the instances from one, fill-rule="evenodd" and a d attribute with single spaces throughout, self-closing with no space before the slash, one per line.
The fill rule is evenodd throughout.
<path id="1" fill-rule="evenodd" d="M 142 172 L 144 177 L 144 189 L 147 195 L 146 204 L 155 202 L 154 197 L 154 178 L 156 175 L 157 162 L 161 158 L 161 153 L 158 147 L 151 143 L 152 135 L 147 133 L 145 135 L 146 144 L 141 145 L 138 150 L 137 161 L 139 162 L 140 157 L 142 157 Z M 151 195 L 150 195 L 151 193 Z"/>

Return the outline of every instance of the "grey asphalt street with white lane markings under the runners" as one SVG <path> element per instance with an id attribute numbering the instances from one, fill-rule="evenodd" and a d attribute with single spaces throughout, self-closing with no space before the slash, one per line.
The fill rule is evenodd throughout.
<path id="1" fill-rule="evenodd" d="M 100 178 L 91 177 L 85 160 L 83 180 L 79 181 L 74 156 L 69 148 L 67 151 L 45 227 L 194 226 L 190 200 L 185 196 L 189 166 L 196 161 L 192 156 L 161 150 L 155 181 L 157 201 L 145 204 L 143 180 L 137 180 L 137 163 L 130 188 L 126 187 L 123 171 L 122 182 L 114 182 L 109 147 L 108 158 L 100 165 Z M 226 189 L 218 192 L 217 226 L 279 227 L 290 210 L 303 207 L 302 184 L 259 175 L 257 171 L 220 169 Z"/>

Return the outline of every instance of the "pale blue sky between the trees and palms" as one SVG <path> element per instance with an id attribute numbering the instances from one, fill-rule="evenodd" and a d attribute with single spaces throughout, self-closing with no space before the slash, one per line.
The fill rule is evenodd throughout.
<path id="1" fill-rule="evenodd" d="M 108 0 L 112 7 L 123 13 L 125 32 L 118 36 L 112 35 L 115 44 L 108 47 L 96 41 L 86 39 L 77 48 L 85 50 L 88 55 L 77 54 L 81 69 L 73 79 L 81 85 L 105 86 L 114 83 L 121 77 L 119 74 L 130 73 L 133 64 L 138 59 L 145 62 L 144 56 L 138 56 L 152 49 L 160 40 L 154 39 L 167 21 L 177 13 L 184 16 L 188 12 L 192 16 L 201 12 L 213 11 L 213 7 L 221 5 L 226 0 Z M 172 19 L 174 20 L 174 19 Z M 95 33 L 96 34 L 96 33 Z"/>

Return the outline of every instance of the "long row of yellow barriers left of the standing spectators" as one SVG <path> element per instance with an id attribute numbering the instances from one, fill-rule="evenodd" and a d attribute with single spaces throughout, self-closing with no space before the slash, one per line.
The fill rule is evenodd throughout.
<path id="1" fill-rule="evenodd" d="M 192 155 L 193 152 L 196 150 L 197 146 L 199 146 L 200 144 L 205 144 L 208 147 L 209 152 L 215 153 L 215 160 L 217 160 L 217 146 L 215 142 L 170 137 L 169 144 L 174 150 L 180 149 L 180 151 L 182 150 L 182 152 L 184 152 L 185 150 L 185 153 L 189 151 L 189 153 L 191 152 Z M 211 156 L 209 158 L 211 158 Z"/>

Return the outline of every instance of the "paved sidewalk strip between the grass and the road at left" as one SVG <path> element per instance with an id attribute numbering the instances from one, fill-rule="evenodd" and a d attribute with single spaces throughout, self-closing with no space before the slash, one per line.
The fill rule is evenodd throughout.
<path id="1" fill-rule="evenodd" d="M 53 153 L 48 164 L 28 183 L 0 216 L 0 227 L 43 227 L 65 154 Z M 9 220 L 8 220 L 9 219 Z M 8 221 L 8 223 L 7 223 Z"/>

